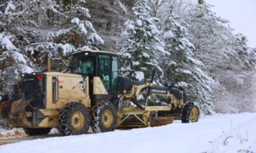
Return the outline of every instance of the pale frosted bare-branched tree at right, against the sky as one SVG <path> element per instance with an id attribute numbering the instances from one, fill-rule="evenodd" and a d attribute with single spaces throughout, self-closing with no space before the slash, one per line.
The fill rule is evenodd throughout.
<path id="1" fill-rule="evenodd" d="M 191 8 L 186 18 L 189 40 L 195 45 L 195 58 L 202 61 L 204 70 L 220 83 L 214 85 L 216 111 L 222 112 L 220 106 L 228 106 L 230 109 L 225 111 L 239 112 L 246 88 L 250 88 L 244 89 L 248 85 L 246 78 L 250 78 L 248 72 L 255 69 L 255 52 L 247 47 L 246 38 L 234 35 L 229 22 L 216 16 L 211 7 L 203 3 Z M 228 102 L 230 98 L 236 99 L 232 106 Z"/>

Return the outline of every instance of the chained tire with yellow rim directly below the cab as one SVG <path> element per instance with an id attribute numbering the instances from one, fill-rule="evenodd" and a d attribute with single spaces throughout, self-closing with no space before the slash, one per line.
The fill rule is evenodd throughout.
<path id="1" fill-rule="evenodd" d="M 101 101 L 93 107 L 92 130 L 95 133 L 114 131 L 117 112 L 109 101 Z"/>

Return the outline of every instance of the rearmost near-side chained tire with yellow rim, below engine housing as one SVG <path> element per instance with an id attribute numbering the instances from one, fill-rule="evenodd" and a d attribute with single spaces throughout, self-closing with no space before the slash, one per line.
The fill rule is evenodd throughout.
<path id="1" fill-rule="evenodd" d="M 59 112 L 61 135 L 81 135 L 90 128 L 90 113 L 82 103 L 68 103 Z"/>

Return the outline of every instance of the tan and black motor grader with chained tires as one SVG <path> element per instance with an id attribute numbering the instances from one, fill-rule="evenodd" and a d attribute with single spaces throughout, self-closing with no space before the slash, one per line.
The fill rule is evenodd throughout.
<path id="1" fill-rule="evenodd" d="M 62 135 L 80 135 L 116 128 L 140 128 L 196 122 L 199 109 L 186 92 L 173 85 L 154 85 L 122 77 L 120 54 L 99 50 L 72 53 L 70 73 L 23 74 L 15 94 L 4 96 L 0 118 L 28 135 L 57 128 Z"/>

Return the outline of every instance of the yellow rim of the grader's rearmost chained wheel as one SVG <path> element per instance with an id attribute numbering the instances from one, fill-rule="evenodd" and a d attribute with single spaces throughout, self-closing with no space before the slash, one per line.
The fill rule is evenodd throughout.
<path id="1" fill-rule="evenodd" d="M 72 128 L 78 131 L 84 127 L 85 117 L 81 112 L 74 112 L 71 117 Z"/>

